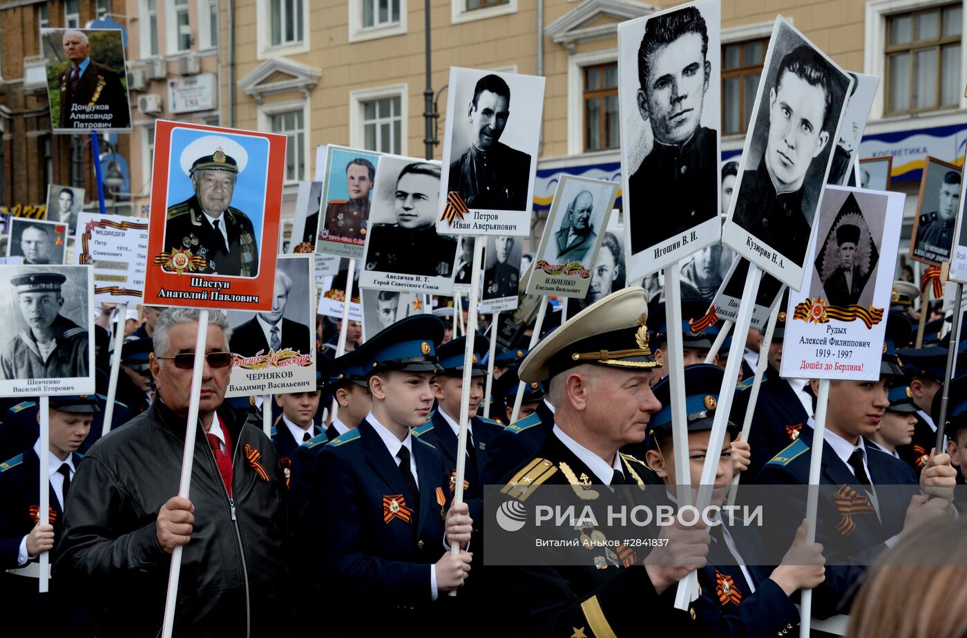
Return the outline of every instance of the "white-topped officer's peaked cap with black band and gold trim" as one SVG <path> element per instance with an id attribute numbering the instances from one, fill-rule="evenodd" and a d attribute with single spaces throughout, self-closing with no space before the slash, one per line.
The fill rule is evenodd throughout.
<path id="1" fill-rule="evenodd" d="M 520 380 L 548 380 L 590 363 L 610 368 L 659 368 L 648 347 L 645 289 L 612 292 L 591 304 L 531 350 L 520 364 Z"/>

